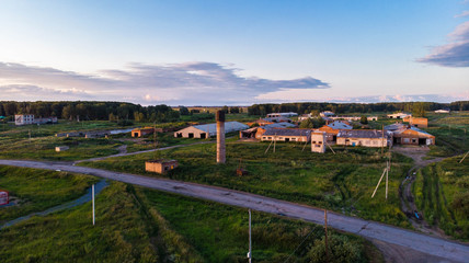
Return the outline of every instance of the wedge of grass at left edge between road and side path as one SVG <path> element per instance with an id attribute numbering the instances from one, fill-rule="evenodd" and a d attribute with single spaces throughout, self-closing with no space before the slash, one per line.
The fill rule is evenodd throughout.
<path id="1" fill-rule="evenodd" d="M 94 182 L 88 175 L 0 165 L 0 188 L 19 198 L 18 205 L 0 208 L 0 225 L 78 198 Z"/>

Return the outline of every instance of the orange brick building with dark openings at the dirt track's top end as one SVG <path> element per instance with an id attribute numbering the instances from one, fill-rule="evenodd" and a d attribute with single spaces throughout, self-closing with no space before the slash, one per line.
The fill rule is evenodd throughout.
<path id="1" fill-rule="evenodd" d="M 392 132 L 397 145 L 435 145 L 435 136 L 416 127 L 404 127 Z"/>

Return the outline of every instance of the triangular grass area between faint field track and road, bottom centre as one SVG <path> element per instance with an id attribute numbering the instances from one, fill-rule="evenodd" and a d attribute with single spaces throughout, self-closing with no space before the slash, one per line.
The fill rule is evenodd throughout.
<path id="1" fill-rule="evenodd" d="M 196 201 L 140 188 L 151 208 L 164 217 L 172 229 L 193 244 L 205 262 L 244 262 L 248 251 L 248 211 L 245 209 Z M 308 233 L 312 231 L 308 238 Z M 253 261 L 284 262 L 305 240 L 289 262 L 307 262 L 308 253 L 323 244 L 321 226 L 252 213 Z M 330 230 L 330 239 L 344 239 L 357 253 L 352 262 L 380 262 L 380 253 L 362 238 Z M 319 241 L 319 243 L 318 243 Z M 342 248 L 342 247 L 340 247 Z M 332 249 L 332 248 L 331 248 Z M 324 252 L 319 253 L 324 256 Z M 339 256 L 331 262 L 339 261 Z"/>

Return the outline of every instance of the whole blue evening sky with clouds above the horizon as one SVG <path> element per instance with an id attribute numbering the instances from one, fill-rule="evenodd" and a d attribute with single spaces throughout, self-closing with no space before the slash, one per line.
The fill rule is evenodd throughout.
<path id="1" fill-rule="evenodd" d="M 469 100 L 469 0 L 2 0 L 7 100 Z"/>

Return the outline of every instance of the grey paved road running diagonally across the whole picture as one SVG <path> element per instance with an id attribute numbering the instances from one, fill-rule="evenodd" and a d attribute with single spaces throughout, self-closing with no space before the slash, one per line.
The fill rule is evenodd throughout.
<path id="1" fill-rule="evenodd" d="M 147 178 L 94 168 L 75 167 L 65 163 L 0 160 L 0 164 L 84 173 L 159 191 L 251 208 L 323 225 L 324 213 L 322 209 L 217 186 L 168 179 Z M 328 225 L 338 230 L 409 248 L 428 255 L 445 259 L 446 261 L 467 262 L 469 259 L 469 245 L 467 244 L 422 235 L 380 222 L 368 221 L 336 213 L 328 213 Z"/>

